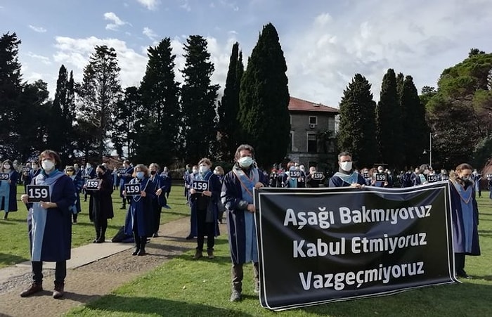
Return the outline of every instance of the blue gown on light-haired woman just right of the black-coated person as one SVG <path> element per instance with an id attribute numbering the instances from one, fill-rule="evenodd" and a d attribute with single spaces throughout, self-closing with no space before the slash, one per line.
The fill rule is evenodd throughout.
<path id="1" fill-rule="evenodd" d="M 155 186 L 145 177 L 142 181 L 132 179 L 129 183 L 140 183 L 140 190 L 145 190 L 145 197 L 131 196 L 130 207 L 124 222 L 124 233 L 133 235 L 135 230 L 139 237 L 148 237 L 154 233 L 154 211 L 152 201 L 155 196 Z M 135 225 L 136 220 L 136 227 Z"/>

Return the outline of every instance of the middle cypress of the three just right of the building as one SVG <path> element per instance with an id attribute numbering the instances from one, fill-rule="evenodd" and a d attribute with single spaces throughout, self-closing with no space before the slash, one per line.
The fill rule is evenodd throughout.
<path id="1" fill-rule="evenodd" d="M 380 102 L 376 106 L 376 140 L 380 160 L 389 167 L 402 167 L 401 108 L 396 92 L 396 76 L 389 68 L 381 84 Z"/>

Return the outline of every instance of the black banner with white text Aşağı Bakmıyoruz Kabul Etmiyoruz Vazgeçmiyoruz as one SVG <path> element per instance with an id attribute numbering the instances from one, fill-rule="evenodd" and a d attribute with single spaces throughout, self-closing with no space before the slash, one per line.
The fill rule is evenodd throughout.
<path id="1" fill-rule="evenodd" d="M 261 306 L 455 283 L 448 182 L 255 190 Z"/>

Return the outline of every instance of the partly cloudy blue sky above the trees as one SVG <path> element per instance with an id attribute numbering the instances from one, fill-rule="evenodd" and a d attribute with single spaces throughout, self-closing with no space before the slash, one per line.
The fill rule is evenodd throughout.
<path id="1" fill-rule="evenodd" d="M 247 60 L 268 22 L 280 37 L 290 95 L 335 107 L 356 73 L 378 100 L 390 67 L 420 90 L 436 86 L 470 48 L 492 52 L 490 0 L 0 0 L 1 33 L 22 41 L 23 78 L 48 82 L 52 96 L 60 65 L 81 81 L 96 45 L 116 49 L 122 86 L 138 86 L 149 46 L 171 38 L 182 69 L 183 43 L 194 34 L 207 38 L 212 81 L 223 87 L 233 43 Z"/>

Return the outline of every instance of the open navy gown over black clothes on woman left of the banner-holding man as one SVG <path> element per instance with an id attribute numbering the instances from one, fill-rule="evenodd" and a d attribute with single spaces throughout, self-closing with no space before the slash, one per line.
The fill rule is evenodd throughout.
<path id="1" fill-rule="evenodd" d="M 208 171 L 207 174 L 202 178 L 200 175 L 195 176 L 195 179 L 202 179 L 203 181 L 209 181 L 209 190 L 212 192 L 212 196 L 209 199 L 209 204 L 207 206 L 207 209 L 210 208 L 212 209 L 212 215 L 214 216 L 213 223 L 215 224 L 214 226 L 214 234 L 215 236 L 220 235 L 219 231 L 219 209 L 217 208 L 217 202 L 219 202 L 220 195 L 221 195 L 221 181 L 219 180 L 219 177 L 217 177 L 212 171 Z M 193 186 L 193 181 L 191 182 L 191 185 Z M 198 236 L 198 209 L 197 209 L 197 198 L 198 195 L 202 195 L 202 193 L 195 193 L 190 195 L 190 209 L 191 209 L 191 230 L 190 230 L 190 235 L 193 235 L 193 237 Z"/>

